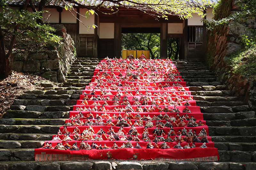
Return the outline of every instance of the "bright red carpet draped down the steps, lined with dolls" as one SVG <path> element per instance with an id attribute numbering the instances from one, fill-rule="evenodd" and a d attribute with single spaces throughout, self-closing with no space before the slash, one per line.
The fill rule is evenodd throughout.
<path id="1" fill-rule="evenodd" d="M 80 130 L 80 132 L 87 132 L 87 129 L 90 128 L 89 125 L 91 124 L 91 127 L 94 130 L 94 133 L 89 135 L 89 140 L 84 140 L 84 143 L 88 142 L 88 144 L 91 145 L 92 142 L 94 142 L 98 146 L 100 144 L 101 146 L 106 144 L 109 149 L 80 149 L 77 151 L 71 151 L 68 149 L 65 151 L 39 148 L 35 149 L 35 160 L 154 159 L 217 161 L 219 159 L 218 150 L 214 148 L 214 143 L 212 142 L 211 137 L 207 136 L 208 127 L 205 125 L 200 107 L 196 106 L 196 101 L 193 100 L 193 97 L 190 95 L 191 92 L 189 91 L 188 87 L 186 87 L 186 82 L 184 82 L 181 76 L 179 76 L 178 70 L 169 60 L 135 60 L 133 62 L 127 60 L 102 60 L 94 71 L 92 83 L 89 86 L 86 86 L 85 90 L 83 90 L 83 95 L 80 95 L 80 99 L 77 100 L 76 105 L 73 107 L 73 111 L 70 111 L 70 118 L 66 120 L 66 123 L 70 123 L 72 119 L 72 124 L 77 123 L 75 122 L 78 120 L 78 117 L 76 116 L 79 115 L 79 113 L 83 114 L 84 117 L 79 118 L 78 124 L 76 124 L 77 128 Z M 118 99 L 118 97 L 120 98 Z M 127 101 L 125 100 L 125 97 L 127 97 Z M 84 98 L 87 98 L 87 100 L 84 100 Z M 156 104 L 158 107 L 156 107 Z M 187 107 L 190 110 L 190 113 L 182 113 L 186 105 L 189 105 Z M 139 106 L 141 106 L 141 109 L 138 108 Z M 152 109 L 151 106 L 156 110 Z M 175 139 L 179 137 L 177 134 L 180 133 L 184 126 L 174 126 L 173 134 L 173 132 L 170 132 L 170 126 L 166 124 L 166 122 L 173 123 L 172 120 L 177 118 L 176 122 L 178 122 L 177 124 L 179 125 L 181 119 L 179 119 L 179 116 L 177 116 L 177 110 L 175 110 L 175 108 L 179 109 L 180 116 L 184 115 L 184 117 L 181 119 L 184 122 L 187 132 L 189 132 L 189 129 L 191 129 L 190 134 L 192 137 L 189 135 L 187 140 L 189 141 L 190 146 L 192 145 L 192 141 L 196 138 L 196 135 L 199 135 L 199 141 L 195 142 L 195 148 L 177 149 L 177 147 L 184 147 L 188 144 L 188 142 L 186 142 L 186 136 L 183 133 L 181 138 L 185 139 L 185 141 L 182 140 L 183 142 L 180 142 L 180 146 L 177 146 L 178 142 L 176 142 Z M 162 112 L 160 112 L 161 110 Z M 125 115 L 125 111 L 128 111 L 127 115 Z M 93 116 L 93 118 L 90 118 L 92 123 L 89 122 L 86 124 L 86 117 L 90 112 Z M 134 131 L 137 131 L 138 138 L 140 139 L 138 142 L 141 147 L 140 149 L 110 149 L 114 142 L 116 142 L 118 147 L 121 147 L 123 143 L 127 142 L 116 140 L 117 138 L 115 138 L 114 141 L 107 139 L 110 136 L 107 134 L 110 127 L 113 128 L 114 132 L 118 132 L 120 129 L 119 126 L 115 126 L 118 124 L 117 117 L 119 113 L 120 118 L 123 117 L 124 121 L 128 121 L 127 123 L 129 126 L 126 125 L 127 127 L 123 127 L 126 135 L 128 136 L 127 133 L 130 130 L 133 138 L 135 137 Z M 165 113 L 168 116 L 164 117 Z M 98 123 L 95 123 L 98 121 L 95 119 L 96 114 L 101 116 Z M 136 120 L 137 114 L 139 114 L 142 118 L 142 120 L 139 121 L 139 125 L 136 124 L 138 119 L 140 119 L 138 118 Z M 187 117 L 185 117 L 186 114 Z M 151 120 L 152 124 L 154 125 L 153 127 L 149 126 L 150 123 L 148 122 L 147 116 L 153 119 Z M 159 116 L 160 118 L 164 117 L 164 119 L 162 118 L 161 120 L 154 120 L 156 116 Z M 192 127 L 187 127 L 187 123 L 189 122 L 188 119 L 192 118 L 191 116 L 194 117 L 193 119 L 195 119 L 194 122 L 190 120 L 192 124 L 194 124 L 191 125 Z M 130 122 L 127 117 L 131 118 Z M 108 122 L 108 120 L 111 120 L 111 122 L 114 124 L 111 123 L 112 125 L 104 125 Z M 80 124 L 84 123 L 84 125 L 80 126 L 79 121 Z M 142 140 L 145 139 L 145 136 L 143 138 L 142 134 L 145 130 L 144 126 L 147 122 L 147 125 L 149 126 L 148 139 L 151 141 L 152 145 L 148 144 L 147 140 Z M 163 138 L 166 139 L 169 137 L 168 140 L 174 141 L 170 142 L 167 140 L 166 144 L 169 148 L 147 148 L 147 146 L 150 147 L 155 145 L 155 142 L 153 142 L 155 138 L 153 131 L 156 129 L 156 123 L 159 122 L 162 123 L 162 126 L 159 126 L 159 129 L 164 130 L 164 132 L 162 132 Z M 131 124 L 129 123 L 135 125 L 136 130 L 132 131 Z M 202 123 L 202 125 L 200 125 L 200 123 Z M 197 126 L 198 124 L 200 126 Z M 99 135 L 96 135 L 96 133 L 100 131 L 101 128 L 106 133 L 107 138 L 103 137 L 103 141 L 91 140 L 91 138 L 94 139 L 96 136 L 99 137 Z M 208 139 L 208 143 L 206 143 L 207 148 L 200 147 L 205 141 L 203 133 L 200 133 L 203 128 L 205 129 L 205 135 Z M 61 132 L 63 129 L 64 126 L 60 127 Z M 72 133 L 74 129 L 74 125 L 67 127 L 67 130 L 70 133 Z M 168 135 L 168 132 L 170 132 L 169 134 L 172 135 Z M 163 145 L 163 139 L 161 139 L 160 134 L 161 133 L 157 135 L 159 139 L 156 143 L 158 144 L 159 148 Z M 52 139 L 54 137 L 55 136 L 53 136 Z M 60 139 L 63 139 L 65 136 L 62 134 L 59 135 L 59 137 Z M 70 138 L 73 139 L 73 137 L 74 135 L 70 134 Z M 119 134 L 119 138 L 122 137 L 123 135 Z M 62 140 L 45 141 L 45 146 L 47 148 L 49 145 L 46 145 L 46 142 L 52 143 L 52 148 L 54 148 L 54 146 L 56 146 L 59 142 L 62 142 L 63 145 L 66 144 L 66 142 Z M 75 142 L 77 147 L 79 147 L 81 143 L 81 140 L 79 139 L 77 141 L 68 141 L 68 144 L 72 146 Z M 131 141 L 133 147 L 136 146 L 136 143 L 136 141 Z M 96 146 L 96 148 L 98 146 Z"/>

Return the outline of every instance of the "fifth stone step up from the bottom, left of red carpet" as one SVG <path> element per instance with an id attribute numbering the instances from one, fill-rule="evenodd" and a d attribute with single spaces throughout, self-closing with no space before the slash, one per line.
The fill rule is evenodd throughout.
<path id="1" fill-rule="evenodd" d="M 57 134 L 61 125 L 0 125 L 2 133 Z"/>

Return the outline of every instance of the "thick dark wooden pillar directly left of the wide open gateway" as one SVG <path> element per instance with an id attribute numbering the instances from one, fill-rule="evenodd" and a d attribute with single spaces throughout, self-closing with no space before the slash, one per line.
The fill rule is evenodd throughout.
<path id="1" fill-rule="evenodd" d="M 114 26 L 114 56 L 119 58 L 121 56 L 122 51 L 122 28 L 120 23 L 115 23 Z"/>

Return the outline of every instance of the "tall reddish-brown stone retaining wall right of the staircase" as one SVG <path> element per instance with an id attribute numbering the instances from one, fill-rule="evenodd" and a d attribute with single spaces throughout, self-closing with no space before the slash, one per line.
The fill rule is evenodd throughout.
<path id="1" fill-rule="evenodd" d="M 236 0 L 221 0 L 218 10 L 215 20 L 227 17 L 238 10 Z M 247 28 L 256 28 L 255 19 L 249 19 L 247 22 L 231 21 L 228 25 L 216 26 L 214 30 L 209 31 L 206 60 L 210 69 L 218 75 L 217 81 L 224 82 L 228 90 L 244 98 L 244 101 L 249 102 L 250 107 L 255 109 L 256 89 L 253 85 L 256 83 L 232 73 L 232 68 L 227 64 L 228 55 L 243 48 L 240 38 L 243 35 L 252 35 Z"/>

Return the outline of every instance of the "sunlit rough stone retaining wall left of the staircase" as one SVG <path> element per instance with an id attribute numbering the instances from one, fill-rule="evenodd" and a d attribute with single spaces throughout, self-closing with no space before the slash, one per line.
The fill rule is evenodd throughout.
<path id="1" fill-rule="evenodd" d="M 67 34 L 63 25 L 53 26 L 55 34 L 63 37 L 63 43 L 57 46 L 48 45 L 47 52 L 17 52 L 13 55 L 12 70 L 41 75 L 42 77 L 62 83 L 65 81 L 70 65 L 75 61 L 74 41 Z"/>

